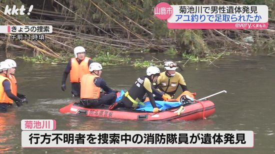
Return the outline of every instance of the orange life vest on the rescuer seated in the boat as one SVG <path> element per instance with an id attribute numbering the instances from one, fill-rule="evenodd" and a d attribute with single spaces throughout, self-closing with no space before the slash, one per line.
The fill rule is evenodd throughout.
<path id="1" fill-rule="evenodd" d="M 97 75 L 85 74 L 80 83 L 80 99 L 98 99 L 100 87 L 96 87 L 93 80 L 98 78 Z"/>

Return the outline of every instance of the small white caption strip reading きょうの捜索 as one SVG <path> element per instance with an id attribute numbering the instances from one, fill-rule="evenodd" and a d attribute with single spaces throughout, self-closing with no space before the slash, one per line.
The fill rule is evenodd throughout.
<path id="1" fill-rule="evenodd" d="M 51 25 L 0 25 L 0 33 L 52 33 Z"/>

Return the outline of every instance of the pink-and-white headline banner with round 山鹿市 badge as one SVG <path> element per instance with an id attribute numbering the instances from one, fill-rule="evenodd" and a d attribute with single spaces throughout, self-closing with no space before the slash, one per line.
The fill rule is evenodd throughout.
<path id="1" fill-rule="evenodd" d="M 169 29 L 266 29 L 266 5 L 169 5 L 160 2 L 154 15 Z"/>

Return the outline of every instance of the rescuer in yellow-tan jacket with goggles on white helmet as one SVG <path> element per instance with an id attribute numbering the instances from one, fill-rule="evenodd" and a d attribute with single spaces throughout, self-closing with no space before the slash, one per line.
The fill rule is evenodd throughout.
<path id="1" fill-rule="evenodd" d="M 160 76 L 157 78 L 156 85 L 154 86 L 158 91 L 170 99 L 174 97 L 177 87 L 180 86 L 184 94 L 194 98 L 194 96 L 188 91 L 183 76 L 175 71 L 175 62 L 166 61 L 164 63 L 164 69 L 165 71 L 160 73 Z M 163 100 L 159 97 L 156 97 L 155 99 Z"/>

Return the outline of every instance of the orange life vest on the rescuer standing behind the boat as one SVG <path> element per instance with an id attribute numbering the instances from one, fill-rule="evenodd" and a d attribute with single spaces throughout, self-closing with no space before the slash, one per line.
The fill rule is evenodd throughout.
<path id="1" fill-rule="evenodd" d="M 80 64 L 78 64 L 76 58 L 71 58 L 71 69 L 69 72 L 70 82 L 76 82 L 79 83 L 81 81 L 81 78 L 84 74 L 88 74 L 89 67 L 88 62 L 90 58 L 85 57 Z"/>

